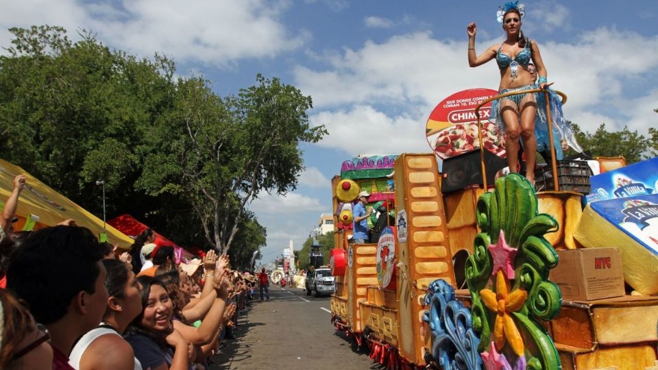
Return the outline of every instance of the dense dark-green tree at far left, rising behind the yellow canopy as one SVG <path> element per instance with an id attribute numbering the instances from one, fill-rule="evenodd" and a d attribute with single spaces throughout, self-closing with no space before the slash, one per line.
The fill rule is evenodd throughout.
<path id="1" fill-rule="evenodd" d="M 94 214 L 105 180 L 108 217 L 134 214 L 183 245 L 205 245 L 186 197 L 135 186 L 166 126 L 176 83 L 173 61 L 112 51 L 89 32 L 71 42 L 62 27 L 13 28 L 0 56 L 0 156 Z"/>

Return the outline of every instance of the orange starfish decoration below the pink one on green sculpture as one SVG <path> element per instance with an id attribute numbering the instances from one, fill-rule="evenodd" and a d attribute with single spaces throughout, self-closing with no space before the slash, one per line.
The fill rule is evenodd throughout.
<path id="1" fill-rule="evenodd" d="M 528 297 L 528 293 L 523 289 L 517 289 L 509 293 L 509 282 L 502 271 L 496 274 L 496 293 L 491 289 L 483 289 L 480 296 L 485 302 L 485 306 L 492 312 L 496 312 L 496 323 L 493 326 L 493 343 L 496 349 L 500 351 L 505 345 L 505 339 L 511 345 L 517 356 L 523 356 L 524 345 L 521 333 L 516 327 L 510 312 L 521 308 Z"/>

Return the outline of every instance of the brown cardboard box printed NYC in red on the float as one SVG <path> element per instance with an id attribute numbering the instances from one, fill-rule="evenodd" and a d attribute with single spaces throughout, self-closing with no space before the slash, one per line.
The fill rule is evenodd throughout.
<path id="1" fill-rule="evenodd" d="M 559 286 L 563 299 L 591 301 L 625 294 L 617 248 L 572 249 L 557 255 L 559 262 L 549 279 Z"/>

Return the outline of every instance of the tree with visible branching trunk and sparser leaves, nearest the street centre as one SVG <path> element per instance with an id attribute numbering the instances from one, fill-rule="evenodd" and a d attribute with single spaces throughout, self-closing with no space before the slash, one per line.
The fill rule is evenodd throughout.
<path id="1" fill-rule="evenodd" d="M 310 97 L 279 79 L 258 75 L 256 86 L 221 98 L 201 77 L 179 80 L 169 121 L 156 132 L 167 155 L 152 153 L 139 185 L 149 194 L 185 194 L 210 246 L 230 249 L 245 206 L 258 194 L 286 194 L 304 169 L 300 142 L 316 143 Z M 173 130 L 172 130 L 173 129 Z"/>

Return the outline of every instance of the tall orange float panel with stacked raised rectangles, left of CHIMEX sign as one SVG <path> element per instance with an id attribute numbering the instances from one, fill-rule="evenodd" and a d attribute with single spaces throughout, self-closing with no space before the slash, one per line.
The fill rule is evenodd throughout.
<path id="1" fill-rule="evenodd" d="M 420 165 L 422 163 L 423 165 Z M 405 210 L 408 237 L 400 243 L 402 271 L 398 273 L 400 355 L 424 365 L 422 313 L 419 297 L 430 282 L 454 282 L 446 214 L 441 199 L 439 172 L 433 154 L 403 154 L 395 162 L 395 208 Z M 414 204 L 419 202 L 416 206 Z M 424 207 L 435 202 L 436 207 Z M 398 225 L 398 234 L 400 227 Z M 423 248 L 416 252 L 416 248 Z M 432 253 L 433 252 L 433 253 Z"/>

